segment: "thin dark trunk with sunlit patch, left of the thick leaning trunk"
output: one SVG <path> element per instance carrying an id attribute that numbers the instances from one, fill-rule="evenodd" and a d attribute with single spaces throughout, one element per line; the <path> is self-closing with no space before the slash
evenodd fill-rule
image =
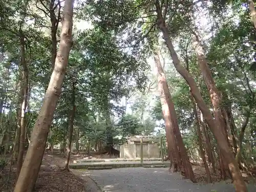
<path id="1" fill-rule="evenodd" d="M 20 139 L 19 139 L 19 152 L 18 152 L 18 159 L 17 159 L 17 176 L 19 175 L 20 169 L 22 168 L 23 163 L 23 156 L 25 150 L 25 138 L 26 138 L 26 110 L 27 110 L 27 102 L 28 102 L 28 81 L 29 81 L 29 71 L 26 61 L 25 55 L 25 40 L 24 35 L 20 34 L 20 54 L 21 54 L 21 66 L 22 66 L 22 84 L 20 88 L 20 97 L 21 97 L 21 106 L 20 106 L 20 117 L 18 120 L 19 127 L 20 127 Z"/>

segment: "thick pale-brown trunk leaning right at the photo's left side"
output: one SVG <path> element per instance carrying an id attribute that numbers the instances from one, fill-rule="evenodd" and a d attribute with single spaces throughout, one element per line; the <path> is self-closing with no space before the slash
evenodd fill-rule
<path id="1" fill-rule="evenodd" d="M 49 128 L 61 92 L 61 86 L 72 46 L 73 6 L 74 0 L 65 1 L 65 5 L 63 7 L 60 45 L 54 70 L 44 98 L 44 102 L 34 125 L 31 142 L 22 169 L 20 170 L 14 192 L 31 192 L 39 173 L 40 163 L 42 157 L 44 156 Z"/>

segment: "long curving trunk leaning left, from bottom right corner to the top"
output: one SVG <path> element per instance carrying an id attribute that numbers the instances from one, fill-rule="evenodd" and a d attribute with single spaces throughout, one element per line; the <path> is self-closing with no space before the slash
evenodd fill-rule
<path id="1" fill-rule="evenodd" d="M 174 66 L 176 70 L 183 76 L 186 80 L 187 84 L 191 89 L 191 93 L 195 98 L 196 102 L 198 103 L 198 107 L 203 113 L 203 116 L 209 125 L 211 132 L 214 134 L 214 137 L 220 147 L 222 154 L 224 155 L 226 162 L 228 163 L 229 170 L 231 172 L 234 186 L 236 187 L 237 191 L 240 192 L 247 192 L 247 187 L 245 185 L 244 179 L 240 172 L 238 163 L 236 159 L 234 159 L 230 148 L 227 145 L 226 137 L 224 136 L 221 127 L 218 126 L 218 123 L 215 121 L 214 117 L 212 117 L 206 103 L 203 100 L 202 95 L 197 87 L 197 84 L 191 74 L 181 65 L 178 55 L 174 49 L 173 42 L 169 37 L 168 29 L 165 26 L 165 20 L 163 19 L 161 13 L 161 7 L 159 1 L 155 3 L 157 16 L 158 16 L 158 28 L 162 31 L 164 40 L 166 42 L 167 48 L 170 51 L 170 56 L 173 59 Z"/>

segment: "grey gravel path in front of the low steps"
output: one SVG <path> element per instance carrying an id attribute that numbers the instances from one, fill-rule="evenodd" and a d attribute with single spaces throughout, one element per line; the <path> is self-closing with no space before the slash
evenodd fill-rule
<path id="1" fill-rule="evenodd" d="M 194 184 L 178 174 L 171 174 L 168 168 L 119 168 L 90 170 L 83 173 L 91 177 L 103 189 L 111 192 L 234 192 L 232 184 Z M 248 191 L 256 186 L 248 185 Z"/>

